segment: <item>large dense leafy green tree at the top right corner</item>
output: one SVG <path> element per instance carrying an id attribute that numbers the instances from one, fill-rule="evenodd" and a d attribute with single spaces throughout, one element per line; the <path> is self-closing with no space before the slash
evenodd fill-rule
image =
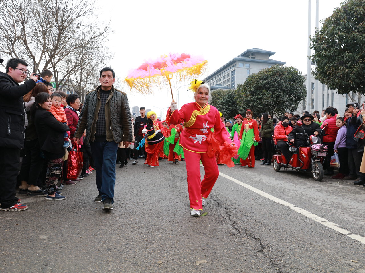
<path id="1" fill-rule="evenodd" d="M 349 0 L 311 37 L 314 77 L 339 94 L 365 94 L 365 1 Z"/>

